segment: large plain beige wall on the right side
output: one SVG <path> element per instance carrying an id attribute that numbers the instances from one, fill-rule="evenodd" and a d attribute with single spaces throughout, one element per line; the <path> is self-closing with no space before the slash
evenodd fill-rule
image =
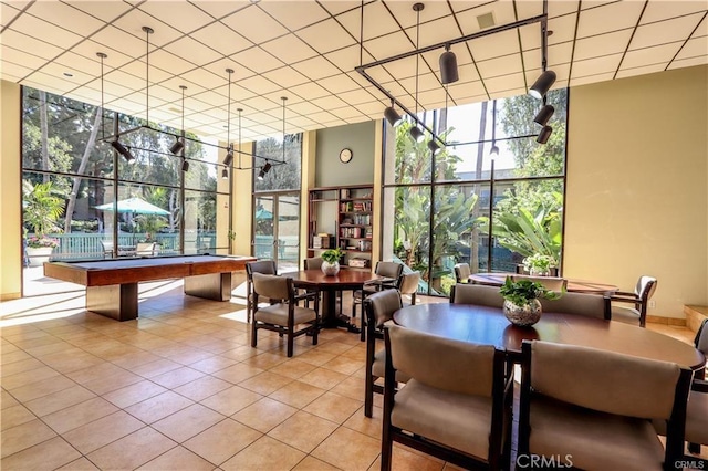
<path id="1" fill-rule="evenodd" d="M 708 66 L 571 90 L 563 274 L 708 304 Z"/>

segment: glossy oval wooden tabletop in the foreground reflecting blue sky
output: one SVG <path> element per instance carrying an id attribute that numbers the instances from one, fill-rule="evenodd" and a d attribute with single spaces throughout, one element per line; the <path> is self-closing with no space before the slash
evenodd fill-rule
<path id="1" fill-rule="evenodd" d="M 503 350 L 519 363 L 523 341 L 580 345 L 643 358 L 673 362 L 694 370 L 706 364 L 693 345 L 657 332 L 617 321 L 546 313 L 530 327 L 511 324 L 501 307 L 471 304 L 418 304 L 394 313 L 394 322 L 414 331 Z"/>

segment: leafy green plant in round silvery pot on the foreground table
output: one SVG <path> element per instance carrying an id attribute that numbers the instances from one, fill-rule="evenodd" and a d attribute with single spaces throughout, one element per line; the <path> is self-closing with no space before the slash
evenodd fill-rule
<path id="1" fill-rule="evenodd" d="M 561 293 L 550 291 L 539 282 L 531 280 L 512 281 L 510 276 L 507 276 L 507 281 L 499 289 L 499 293 L 504 299 L 504 315 L 513 325 L 521 327 L 533 325 L 541 318 L 540 297 L 545 297 L 546 300 L 561 297 Z"/>

